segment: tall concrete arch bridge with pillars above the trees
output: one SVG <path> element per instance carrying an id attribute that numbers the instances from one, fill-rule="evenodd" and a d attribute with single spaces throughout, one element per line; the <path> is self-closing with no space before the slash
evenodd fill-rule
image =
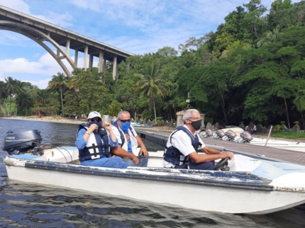
<path id="1" fill-rule="evenodd" d="M 126 57 L 133 55 L 130 52 L 107 45 L 104 42 L 88 38 L 72 30 L 53 25 L 47 21 L 34 18 L 33 16 L 1 5 L 0 29 L 25 35 L 37 42 L 60 64 L 60 67 L 62 67 L 62 70 L 67 76 L 71 76 L 71 73 L 62 62 L 62 59 L 67 59 L 72 69 L 75 69 L 77 68 L 79 52 L 84 53 L 84 69 L 87 69 L 88 58 L 90 70 L 92 69 L 93 58 L 99 58 L 99 72 L 106 70 L 106 61 L 113 62 L 113 80 L 118 78 L 117 64 L 126 59 Z M 50 42 L 56 48 L 57 53 L 54 53 L 45 42 Z M 75 50 L 74 59 L 70 57 L 71 49 Z"/>

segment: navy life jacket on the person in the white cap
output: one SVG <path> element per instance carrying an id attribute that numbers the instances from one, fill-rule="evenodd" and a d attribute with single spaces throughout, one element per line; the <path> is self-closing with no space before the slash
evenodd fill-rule
<path id="1" fill-rule="evenodd" d="M 85 129 L 88 130 L 89 125 L 82 123 L 79 125 L 79 130 Z M 79 132 L 78 130 L 78 132 Z M 77 132 L 77 135 L 78 135 Z M 91 133 L 94 134 L 94 142 L 91 143 L 90 147 L 84 147 L 84 149 L 79 149 L 79 161 L 88 161 L 93 159 L 101 159 L 106 156 L 109 157 L 109 137 L 104 128 L 99 128 L 99 132 L 95 130 Z M 90 135 L 91 136 L 91 135 Z M 89 136 L 89 137 L 90 137 Z M 89 150 L 90 149 L 90 150 Z M 90 152 L 91 151 L 91 152 Z"/>

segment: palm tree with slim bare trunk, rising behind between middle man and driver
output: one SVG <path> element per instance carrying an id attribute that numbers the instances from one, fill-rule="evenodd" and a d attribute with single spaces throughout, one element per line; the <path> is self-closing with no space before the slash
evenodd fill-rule
<path id="1" fill-rule="evenodd" d="M 145 74 L 138 74 L 140 81 L 135 85 L 138 88 L 135 90 L 137 93 L 142 93 L 144 96 L 151 96 L 153 99 L 153 106 L 155 111 L 155 96 L 167 96 L 168 87 L 166 81 L 160 75 L 160 65 L 157 62 L 148 64 Z M 157 115 L 155 112 L 155 122 L 157 122 Z"/>

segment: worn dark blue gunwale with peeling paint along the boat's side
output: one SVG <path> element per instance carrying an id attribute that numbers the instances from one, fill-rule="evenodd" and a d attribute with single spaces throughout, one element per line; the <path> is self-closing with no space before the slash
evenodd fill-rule
<path id="1" fill-rule="evenodd" d="M 12 161 L 24 165 L 14 165 Z M 250 172 L 226 172 L 226 171 L 191 171 L 191 170 L 178 170 L 178 169 L 160 169 L 160 168 L 128 168 L 128 169 L 113 169 L 97 166 L 82 166 L 79 164 L 65 164 L 54 161 L 35 161 L 32 159 L 17 159 L 7 156 L 4 160 L 7 166 L 24 166 L 28 169 L 42 169 L 48 171 L 64 171 L 68 173 L 89 174 L 96 176 L 110 176 L 117 178 L 132 178 L 150 181 L 166 181 L 172 183 L 187 183 L 196 184 L 201 186 L 214 186 L 223 188 L 238 188 L 246 190 L 264 190 L 273 191 L 274 187 L 268 185 L 272 182 L 267 178 L 255 176 Z M 140 171 L 145 171 L 141 173 Z M 164 173 L 166 173 L 164 175 Z M 168 174 L 167 174 L 168 173 Z M 238 181 L 239 177 L 246 179 Z"/>

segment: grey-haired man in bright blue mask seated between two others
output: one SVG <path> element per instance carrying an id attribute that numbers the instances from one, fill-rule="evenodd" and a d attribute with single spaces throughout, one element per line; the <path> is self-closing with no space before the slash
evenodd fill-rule
<path id="1" fill-rule="evenodd" d="M 118 147 L 112 148 L 112 153 L 121 156 L 130 166 L 147 167 L 148 150 L 131 126 L 131 114 L 128 111 L 119 112 L 118 119 L 111 127 L 118 139 Z"/>

